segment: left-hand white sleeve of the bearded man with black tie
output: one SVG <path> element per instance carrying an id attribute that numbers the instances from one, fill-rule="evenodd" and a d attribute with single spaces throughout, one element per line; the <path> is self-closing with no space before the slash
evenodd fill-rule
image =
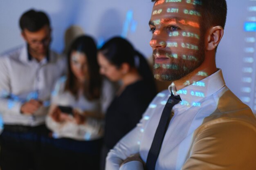
<path id="1" fill-rule="evenodd" d="M 106 158 L 106 170 L 119 170 L 121 163 L 126 158 L 139 152 L 142 137 L 142 133 L 140 132 L 142 121 L 143 119 L 141 119 L 140 123 L 137 124 L 137 126 L 133 128 L 126 136 L 124 136 L 112 150 L 110 150 Z M 136 166 L 134 163 L 138 165 L 137 161 L 132 161 L 124 164 L 124 167 L 122 167 L 124 170 L 132 167 L 134 168 L 134 166 Z M 138 166 L 137 168 L 139 167 L 141 166 Z"/>

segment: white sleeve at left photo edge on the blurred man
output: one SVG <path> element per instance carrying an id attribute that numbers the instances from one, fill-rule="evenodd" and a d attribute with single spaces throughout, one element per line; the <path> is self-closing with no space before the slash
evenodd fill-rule
<path id="1" fill-rule="evenodd" d="M 0 57 L 0 113 L 19 115 L 22 101 L 11 95 L 11 81 L 7 57 Z"/>

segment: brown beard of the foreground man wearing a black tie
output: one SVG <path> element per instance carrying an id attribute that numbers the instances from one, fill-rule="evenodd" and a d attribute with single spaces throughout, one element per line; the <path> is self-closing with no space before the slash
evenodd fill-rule
<path id="1" fill-rule="evenodd" d="M 159 81 L 175 81 L 182 77 L 188 75 L 195 68 L 198 68 L 204 61 L 204 42 L 199 42 L 198 51 L 193 51 L 191 53 L 186 53 L 186 59 L 183 59 L 183 54 L 177 54 L 177 58 L 170 57 L 170 61 L 167 64 L 156 64 L 155 56 L 156 54 L 173 56 L 171 51 L 166 51 L 163 49 L 155 49 L 153 51 L 153 73 L 155 79 Z M 193 57 L 192 57 L 193 56 Z"/>

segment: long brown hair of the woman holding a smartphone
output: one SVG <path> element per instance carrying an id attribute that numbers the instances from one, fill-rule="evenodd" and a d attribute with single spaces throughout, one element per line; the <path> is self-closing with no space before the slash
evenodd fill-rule
<path id="1" fill-rule="evenodd" d="M 100 97 L 102 78 L 99 74 L 99 64 L 97 62 L 97 47 L 94 40 L 87 35 L 82 35 L 70 46 L 68 52 L 68 73 L 67 81 L 65 84 L 65 91 L 70 91 L 76 99 L 78 98 L 79 82 L 71 70 L 70 58 L 73 51 L 84 53 L 87 57 L 88 66 L 88 79 L 85 80 L 83 85 L 83 95 L 88 100 L 98 99 Z"/>

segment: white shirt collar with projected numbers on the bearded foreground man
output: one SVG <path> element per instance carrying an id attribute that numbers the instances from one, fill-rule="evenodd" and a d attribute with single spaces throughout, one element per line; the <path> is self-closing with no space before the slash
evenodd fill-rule
<path id="1" fill-rule="evenodd" d="M 180 95 L 180 98 L 182 99 L 182 105 L 191 107 L 198 106 L 198 104 L 200 104 L 198 103 L 200 100 L 213 95 L 224 86 L 225 81 L 223 79 L 222 71 L 221 69 L 218 69 L 218 71 L 212 75 L 198 82 L 193 82 L 193 84 L 190 84 L 180 89 L 179 91 L 176 90 L 174 83 L 168 87 L 168 90 L 174 95 Z"/>

